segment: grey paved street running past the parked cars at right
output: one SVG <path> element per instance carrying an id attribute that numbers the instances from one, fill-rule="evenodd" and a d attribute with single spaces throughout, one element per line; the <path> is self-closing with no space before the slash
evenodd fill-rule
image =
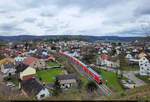
<path id="1" fill-rule="evenodd" d="M 106 67 L 99 67 L 108 71 L 116 72 L 113 68 L 106 68 Z M 143 80 L 138 79 L 135 74 L 137 74 L 138 71 L 123 71 L 123 76 L 127 77 L 128 79 L 132 80 L 135 83 L 135 86 L 143 86 L 146 85 L 146 83 Z M 118 74 L 120 74 L 120 70 L 118 70 Z"/>

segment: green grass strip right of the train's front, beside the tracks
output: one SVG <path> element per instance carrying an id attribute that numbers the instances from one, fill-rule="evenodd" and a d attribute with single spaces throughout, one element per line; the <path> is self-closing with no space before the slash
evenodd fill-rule
<path id="1" fill-rule="evenodd" d="M 103 69 L 100 69 L 101 76 L 103 78 L 103 82 L 106 83 L 106 80 L 108 81 L 108 87 L 111 88 L 114 91 L 122 91 L 122 87 L 118 81 L 117 75 L 110 71 L 104 71 Z"/>

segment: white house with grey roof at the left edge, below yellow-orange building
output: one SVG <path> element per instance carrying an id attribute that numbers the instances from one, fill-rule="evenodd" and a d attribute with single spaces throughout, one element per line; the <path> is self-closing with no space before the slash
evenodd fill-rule
<path id="1" fill-rule="evenodd" d="M 1 72 L 3 72 L 4 74 L 15 73 L 15 71 L 16 69 L 14 63 L 5 62 L 1 65 Z"/>

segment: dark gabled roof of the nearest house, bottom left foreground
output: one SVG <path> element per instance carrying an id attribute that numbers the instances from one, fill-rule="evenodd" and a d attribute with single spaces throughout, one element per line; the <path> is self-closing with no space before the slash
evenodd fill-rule
<path id="1" fill-rule="evenodd" d="M 36 78 L 22 81 L 21 87 L 28 95 L 37 95 L 44 88 L 42 83 Z"/>

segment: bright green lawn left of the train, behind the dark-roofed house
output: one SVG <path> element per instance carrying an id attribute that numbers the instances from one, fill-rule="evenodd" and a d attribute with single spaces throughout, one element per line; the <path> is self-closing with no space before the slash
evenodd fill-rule
<path id="1" fill-rule="evenodd" d="M 56 75 L 61 75 L 61 74 L 62 74 L 62 69 L 61 68 L 37 71 L 37 76 L 38 76 L 38 78 L 42 79 L 42 82 L 53 82 L 54 77 Z"/>

